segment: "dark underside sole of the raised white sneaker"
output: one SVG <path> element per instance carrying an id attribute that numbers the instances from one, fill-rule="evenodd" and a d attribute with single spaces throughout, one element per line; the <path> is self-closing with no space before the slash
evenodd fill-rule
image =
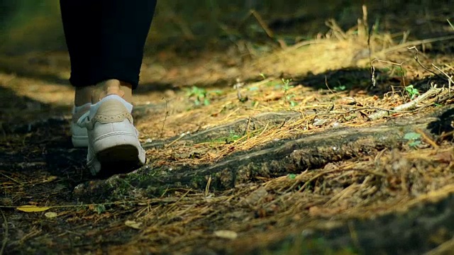
<path id="1" fill-rule="evenodd" d="M 104 149 L 96 154 L 96 159 L 101 165 L 96 174 L 99 177 L 126 174 L 143 166 L 138 148 L 133 145 L 117 145 Z"/>

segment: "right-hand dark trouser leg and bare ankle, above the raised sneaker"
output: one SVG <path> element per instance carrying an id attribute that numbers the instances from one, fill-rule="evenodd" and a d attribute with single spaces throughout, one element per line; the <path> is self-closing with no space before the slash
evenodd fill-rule
<path id="1" fill-rule="evenodd" d="M 92 102 L 118 94 L 131 103 L 156 0 L 102 0 L 100 48 Z"/>

